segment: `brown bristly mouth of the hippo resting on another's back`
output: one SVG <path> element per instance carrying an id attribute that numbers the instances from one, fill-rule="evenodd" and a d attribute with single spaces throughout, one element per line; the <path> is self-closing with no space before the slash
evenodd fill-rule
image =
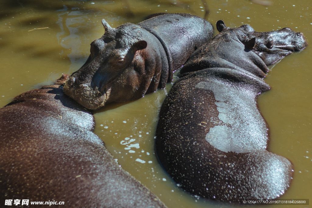
<path id="1" fill-rule="evenodd" d="M 64 93 L 76 100 L 80 105 L 86 109 L 95 110 L 103 107 L 110 97 L 111 89 L 106 89 L 100 92 L 98 87 L 94 89 L 88 84 L 80 84 L 77 88 L 73 88 L 68 84 L 64 85 Z"/>

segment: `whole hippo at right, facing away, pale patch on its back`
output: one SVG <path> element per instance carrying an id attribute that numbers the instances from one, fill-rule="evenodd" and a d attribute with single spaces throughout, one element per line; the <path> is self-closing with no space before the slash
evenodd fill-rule
<path id="1" fill-rule="evenodd" d="M 275 199 L 287 190 L 293 166 L 267 151 L 268 126 L 257 97 L 263 78 L 282 58 L 306 46 L 290 28 L 256 32 L 226 27 L 199 47 L 164 100 L 156 130 L 160 163 L 178 186 L 197 196 L 242 203 Z"/>

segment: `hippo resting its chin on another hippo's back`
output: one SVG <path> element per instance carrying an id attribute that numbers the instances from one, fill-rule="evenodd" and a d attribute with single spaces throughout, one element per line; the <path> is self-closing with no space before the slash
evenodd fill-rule
<path id="1" fill-rule="evenodd" d="M 85 64 L 64 92 L 87 109 L 143 97 L 172 81 L 173 72 L 213 35 L 206 20 L 184 13 L 158 13 L 138 24 L 112 28 L 91 43 Z"/>

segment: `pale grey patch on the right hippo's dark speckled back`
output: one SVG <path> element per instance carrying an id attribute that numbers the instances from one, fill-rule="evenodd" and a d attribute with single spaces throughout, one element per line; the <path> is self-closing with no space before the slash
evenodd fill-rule
<path id="1" fill-rule="evenodd" d="M 248 89 L 233 87 L 219 80 L 199 82 L 195 86 L 211 90 L 223 125 L 209 129 L 206 141 L 222 152 L 253 152 L 266 148 L 266 123 L 259 113 L 255 95 Z"/>

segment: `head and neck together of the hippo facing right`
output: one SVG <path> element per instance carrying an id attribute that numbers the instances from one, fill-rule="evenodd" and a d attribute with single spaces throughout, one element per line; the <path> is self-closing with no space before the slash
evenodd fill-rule
<path id="1" fill-rule="evenodd" d="M 256 32 L 250 25 L 229 28 L 222 20 L 217 22 L 220 32 L 207 44 L 198 48 L 183 66 L 180 75 L 212 67 L 246 70 L 265 77 L 270 66 L 306 46 L 301 32 L 283 28 L 276 31 Z"/>

